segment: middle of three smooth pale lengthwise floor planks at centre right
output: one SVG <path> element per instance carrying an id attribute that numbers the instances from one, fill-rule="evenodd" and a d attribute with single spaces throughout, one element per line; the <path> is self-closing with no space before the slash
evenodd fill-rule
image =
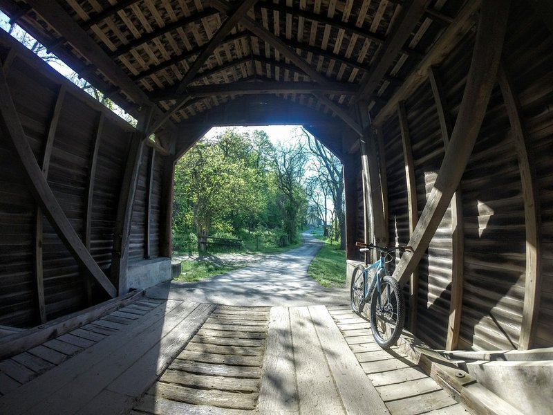
<path id="1" fill-rule="evenodd" d="M 299 412 L 344 414 L 341 398 L 328 367 L 307 307 L 290 308 L 292 347 L 299 396 Z"/>

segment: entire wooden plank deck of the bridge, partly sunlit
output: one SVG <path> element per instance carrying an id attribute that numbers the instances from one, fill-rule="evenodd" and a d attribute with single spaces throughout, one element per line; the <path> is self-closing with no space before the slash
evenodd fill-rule
<path id="1" fill-rule="evenodd" d="M 465 414 L 348 307 L 142 298 L 0 362 L 1 414 Z"/>

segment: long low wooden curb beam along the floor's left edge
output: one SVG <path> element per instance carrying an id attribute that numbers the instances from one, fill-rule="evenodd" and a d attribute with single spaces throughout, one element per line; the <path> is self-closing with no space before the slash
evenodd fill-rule
<path id="1" fill-rule="evenodd" d="M 57 338 L 59 335 L 78 329 L 89 322 L 93 322 L 106 314 L 113 313 L 113 311 L 131 304 L 143 295 L 144 291 L 142 290 L 133 291 L 122 297 L 109 299 L 85 310 L 64 315 L 32 329 L 7 335 L 0 340 L 0 360 L 8 359 L 48 340 Z"/>

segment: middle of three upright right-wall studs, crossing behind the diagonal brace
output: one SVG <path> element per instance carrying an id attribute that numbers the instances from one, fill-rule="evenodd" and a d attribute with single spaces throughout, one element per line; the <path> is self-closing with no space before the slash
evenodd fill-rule
<path id="1" fill-rule="evenodd" d="M 438 70 L 429 67 L 429 80 L 431 84 L 436 111 L 438 111 L 438 120 L 440 121 L 440 131 L 444 141 L 444 149 L 447 151 L 449 138 L 453 126 L 450 122 L 449 111 L 445 93 L 438 76 Z M 457 348 L 459 342 L 459 331 L 461 326 L 462 313 L 462 291 L 463 280 L 465 279 L 465 230 L 462 212 L 461 191 L 458 188 L 451 197 L 451 299 L 449 300 L 449 320 L 447 323 L 447 338 L 445 348 L 453 350 Z"/>

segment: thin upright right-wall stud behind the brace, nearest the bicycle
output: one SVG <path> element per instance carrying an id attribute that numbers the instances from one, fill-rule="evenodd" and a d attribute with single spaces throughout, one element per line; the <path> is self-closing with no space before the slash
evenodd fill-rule
<path id="1" fill-rule="evenodd" d="M 411 148 L 411 135 L 409 133 L 409 123 L 407 122 L 407 111 L 405 102 L 402 101 L 397 106 L 397 120 L 400 122 L 400 131 L 402 135 L 403 160 L 405 166 L 405 180 L 407 184 L 407 207 L 409 209 L 409 238 L 413 237 L 415 226 L 417 225 L 419 215 L 417 208 L 417 183 L 415 181 L 415 163 L 413 163 L 413 151 Z M 417 304 L 419 292 L 419 270 L 415 269 L 411 274 L 411 284 L 409 284 L 409 325 L 411 333 L 417 331 Z"/>

